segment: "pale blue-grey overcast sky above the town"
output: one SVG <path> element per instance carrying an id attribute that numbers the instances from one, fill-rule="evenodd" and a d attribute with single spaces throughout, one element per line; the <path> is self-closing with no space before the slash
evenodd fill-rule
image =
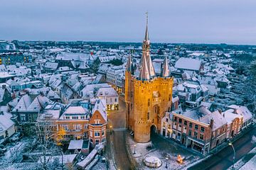
<path id="1" fill-rule="evenodd" d="M 256 45 L 256 0 L 2 0 L 0 40 Z"/>

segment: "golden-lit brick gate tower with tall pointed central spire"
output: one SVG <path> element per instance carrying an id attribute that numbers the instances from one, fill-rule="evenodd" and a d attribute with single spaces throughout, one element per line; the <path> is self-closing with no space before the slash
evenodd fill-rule
<path id="1" fill-rule="evenodd" d="M 147 13 L 146 13 L 147 14 Z M 149 142 L 151 132 L 160 132 L 161 118 L 171 110 L 171 96 L 174 84 L 169 74 L 167 58 L 160 76 L 156 76 L 150 57 L 148 16 L 142 45 L 142 59 L 139 77 L 132 75 L 132 57 L 129 56 L 125 72 L 125 102 L 127 128 L 134 132 L 136 142 Z"/>

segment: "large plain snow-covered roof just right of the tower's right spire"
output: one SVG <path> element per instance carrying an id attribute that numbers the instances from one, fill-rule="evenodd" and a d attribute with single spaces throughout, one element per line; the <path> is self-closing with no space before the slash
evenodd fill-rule
<path id="1" fill-rule="evenodd" d="M 176 69 L 188 69 L 199 71 L 201 67 L 201 61 L 193 58 L 181 57 L 180 59 L 178 59 L 174 67 Z"/>

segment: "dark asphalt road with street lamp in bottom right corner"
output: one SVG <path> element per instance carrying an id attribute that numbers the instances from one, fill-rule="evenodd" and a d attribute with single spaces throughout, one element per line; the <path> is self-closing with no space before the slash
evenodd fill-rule
<path id="1" fill-rule="evenodd" d="M 243 135 L 239 140 L 233 142 L 233 146 L 235 147 L 235 162 L 241 159 L 245 154 L 250 152 L 256 144 L 252 142 L 252 136 L 256 134 L 256 128 L 252 129 L 247 134 Z M 205 161 L 196 164 L 189 168 L 189 170 L 215 170 L 215 169 L 228 169 L 228 167 L 233 164 L 233 149 L 232 147 L 226 147 L 222 151 L 218 152 L 218 154 L 213 155 L 212 157 L 206 159 Z"/>

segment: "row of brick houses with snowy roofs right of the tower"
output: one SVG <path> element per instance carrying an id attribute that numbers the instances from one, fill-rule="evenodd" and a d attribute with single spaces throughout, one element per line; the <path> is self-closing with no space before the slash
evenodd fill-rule
<path id="1" fill-rule="evenodd" d="M 252 125 L 252 113 L 245 106 L 231 105 L 224 112 L 211 112 L 202 105 L 185 112 L 179 109 L 167 112 L 161 125 L 164 137 L 208 154 L 211 149 Z"/>

